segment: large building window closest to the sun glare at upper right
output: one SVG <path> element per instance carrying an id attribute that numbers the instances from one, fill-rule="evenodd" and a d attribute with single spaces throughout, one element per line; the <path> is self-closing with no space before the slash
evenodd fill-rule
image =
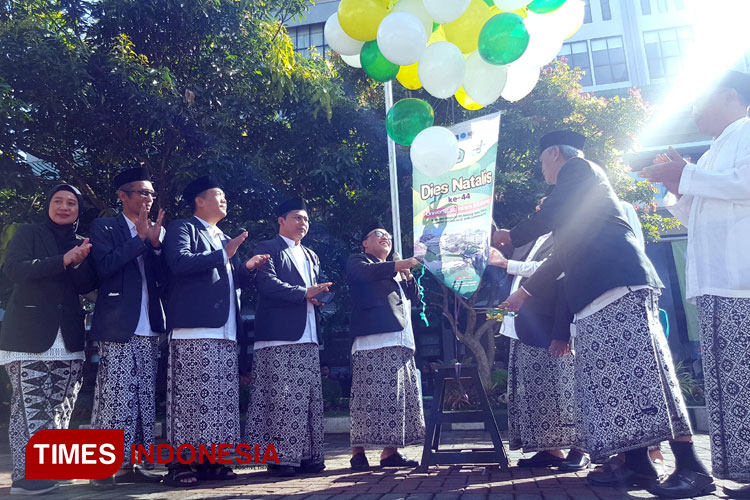
<path id="1" fill-rule="evenodd" d="M 693 43 L 693 30 L 689 26 L 643 33 L 646 61 L 651 78 L 676 76 Z"/>

